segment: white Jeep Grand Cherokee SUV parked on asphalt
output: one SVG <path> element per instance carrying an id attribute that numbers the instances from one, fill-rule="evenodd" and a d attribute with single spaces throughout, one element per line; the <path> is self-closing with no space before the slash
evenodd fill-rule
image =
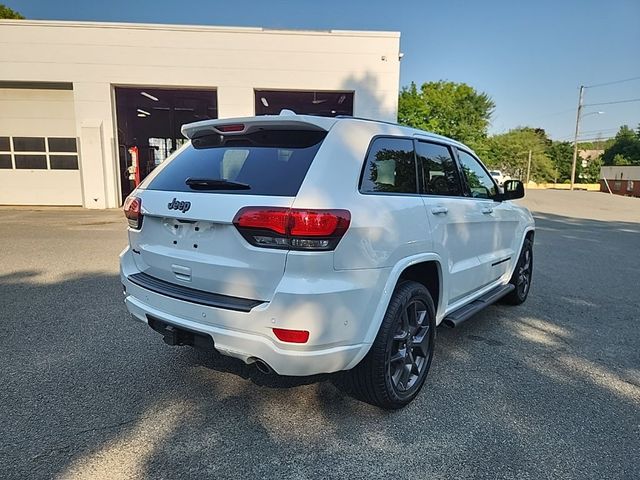
<path id="1" fill-rule="evenodd" d="M 170 345 L 262 371 L 350 370 L 383 408 L 424 384 L 435 329 L 522 303 L 534 223 L 464 145 L 303 115 L 185 125 L 125 202 L 125 302 Z"/>

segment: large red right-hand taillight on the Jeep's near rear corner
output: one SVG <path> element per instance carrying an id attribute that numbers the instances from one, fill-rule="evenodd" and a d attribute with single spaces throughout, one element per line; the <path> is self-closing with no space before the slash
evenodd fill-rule
<path id="1" fill-rule="evenodd" d="M 333 250 L 350 222 L 348 210 L 284 207 L 245 207 L 233 219 L 252 245 L 291 250 Z"/>

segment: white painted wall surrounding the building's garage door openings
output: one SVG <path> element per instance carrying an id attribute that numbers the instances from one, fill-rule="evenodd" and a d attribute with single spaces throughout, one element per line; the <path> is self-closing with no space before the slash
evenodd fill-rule
<path id="1" fill-rule="evenodd" d="M 395 121 L 399 42 L 397 32 L 0 20 L 0 81 L 73 83 L 83 204 L 105 208 L 119 205 L 113 85 L 213 87 L 221 118 L 253 115 L 254 89 L 354 90 L 354 115 Z M 87 125 L 100 129 L 101 155 Z"/>

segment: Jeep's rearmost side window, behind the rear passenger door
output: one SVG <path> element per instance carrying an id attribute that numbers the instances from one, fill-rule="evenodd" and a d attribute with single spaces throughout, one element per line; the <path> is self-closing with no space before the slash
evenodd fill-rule
<path id="1" fill-rule="evenodd" d="M 376 138 L 367 156 L 360 191 L 417 193 L 413 141 Z"/>

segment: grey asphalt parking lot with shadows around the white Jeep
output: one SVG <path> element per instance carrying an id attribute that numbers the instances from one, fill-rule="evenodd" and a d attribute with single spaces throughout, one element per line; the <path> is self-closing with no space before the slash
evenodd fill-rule
<path id="1" fill-rule="evenodd" d="M 120 211 L 0 208 L 0 476 L 640 478 L 640 199 L 524 203 L 528 301 L 438 329 L 392 413 L 132 321 Z"/>

